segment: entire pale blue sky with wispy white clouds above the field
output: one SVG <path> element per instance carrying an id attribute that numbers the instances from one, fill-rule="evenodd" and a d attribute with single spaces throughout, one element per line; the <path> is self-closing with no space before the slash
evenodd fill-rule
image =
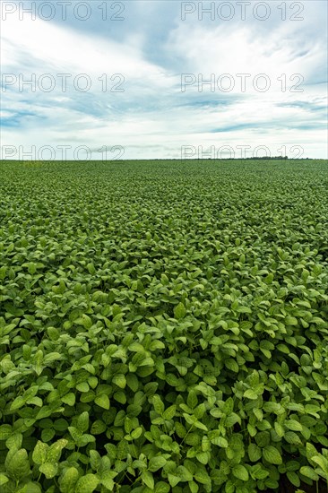
<path id="1" fill-rule="evenodd" d="M 1 1 L 2 159 L 327 159 L 327 2 Z"/>

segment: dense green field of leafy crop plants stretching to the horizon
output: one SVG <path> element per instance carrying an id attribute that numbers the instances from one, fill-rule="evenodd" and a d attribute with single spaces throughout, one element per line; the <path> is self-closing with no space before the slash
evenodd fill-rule
<path id="1" fill-rule="evenodd" d="M 0 163 L 2 493 L 328 490 L 328 163 Z"/>

